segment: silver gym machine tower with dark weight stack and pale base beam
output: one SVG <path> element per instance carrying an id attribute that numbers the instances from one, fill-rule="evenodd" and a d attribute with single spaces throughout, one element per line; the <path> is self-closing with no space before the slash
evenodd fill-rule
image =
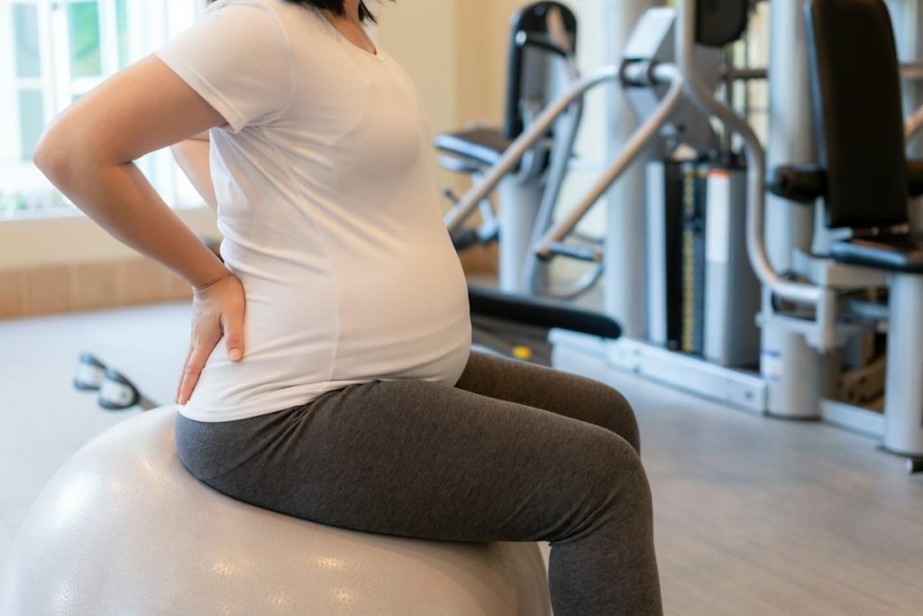
<path id="1" fill-rule="evenodd" d="M 641 7 L 649 4 L 652 3 L 632 2 L 619 9 L 613 7 L 613 19 L 624 25 L 626 13 L 641 13 Z M 717 4 L 727 9 L 726 15 L 747 14 L 752 7 L 748 0 L 739 0 L 737 8 L 731 6 L 731 0 Z M 762 261 L 748 264 L 743 259 L 750 250 L 742 234 L 754 218 L 752 211 L 762 207 L 763 153 L 749 126 L 719 103 L 714 91 L 721 82 L 726 86 L 737 79 L 758 79 L 765 71 L 722 66 L 720 50 L 706 43 L 725 42 L 728 32 L 735 29 L 703 30 L 702 24 L 713 22 L 702 18 L 701 12 L 708 12 L 711 6 L 679 2 L 677 8 L 650 8 L 641 13 L 634 30 L 622 37 L 622 48 L 614 59 L 620 66 L 623 87 L 620 95 L 610 98 L 614 125 L 611 137 L 617 162 L 605 179 L 617 183 L 610 191 L 603 285 L 605 311 L 619 320 L 624 336 L 617 341 L 594 341 L 555 331 L 554 365 L 581 371 L 587 365 L 596 370 L 603 364 L 605 368 L 627 370 L 727 404 L 761 411 L 765 407 L 766 383 L 741 368 L 748 368 L 759 358 L 758 332 L 753 326 L 761 296 L 758 281 L 781 278 L 765 268 L 758 271 Z M 736 31 L 739 34 L 739 29 Z M 672 83 L 679 84 L 678 100 L 672 108 L 665 103 L 670 100 L 673 86 L 663 93 L 668 88 L 666 84 L 644 81 L 657 69 L 676 74 Z M 624 116 L 631 112 L 638 116 L 640 126 L 628 131 Z M 663 115 L 668 115 L 672 127 L 665 124 Z M 711 117 L 713 122 L 706 122 L 705 117 Z M 664 127 L 657 128 L 657 122 Z M 710 127 L 721 129 L 720 142 Z M 661 142 L 654 139 L 658 130 L 665 137 Z M 742 155 L 729 150 L 734 143 L 731 134 L 735 132 L 742 137 Z M 682 154 L 676 143 L 689 145 L 692 151 L 708 152 L 716 146 L 724 151 L 697 162 L 694 156 Z M 665 163 L 641 164 L 651 159 Z M 675 173 L 677 183 L 665 181 L 667 173 Z M 689 175 L 689 182 L 684 174 Z M 699 183 L 711 188 L 703 191 L 709 202 L 701 202 L 695 188 Z M 659 195 L 653 189 L 658 184 Z M 693 187 L 689 191 L 692 199 L 686 199 L 687 194 L 664 194 L 668 185 L 683 189 L 687 184 Z M 566 222 L 580 220 L 593 200 L 602 197 L 607 189 L 608 184 L 602 183 L 581 201 Z M 671 215 L 665 207 L 671 199 L 679 199 L 680 207 L 691 203 L 692 215 L 699 217 L 699 222 L 687 227 L 688 211 L 674 211 Z M 705 226 L 712 227 L 712 233 L 705 234 L 702 245 L 701 233 L 709 229 L 699 228 L 696 232 L 695 224 L 701 225 L 701 214 L 712 210 L 722 215 L 713 215 L 710 221 L 705 217 Z M 675 236 L 668 235 L 668 225 L 673 225 Z M 559 246 L 556 242 L 568 231 L 569 227 L 563 225 L 553 229 L 536 247 L 536 253 L 554 256 Z M 671 276 L 670 263 L 682 257 L 687 231 L 692 236 L 689 243 L 693 245 L 694 260 L 682 261 L 683 267 L 673 270 Z M 670 253 L 674 253 L 672 257 Z M 598 258 L 602 259 L 603 254 Z M 684 303 L 688 289 L 684 285 L 689 282 L 689 271 L 685 266 L 696 262 L 699 265 L 691 279 L 698 289 L 697 299 L 687 310 Z M 701 278 L 704 282 L 698 282 Z M 692 320 L 698 321 L 697 326 L 689 328 L 692 334 L 685 344 L 686 352 L 679 352 L 681 344 L 671 346 L 671 339 L 677 340 L 678 336 L 669 331 L 669 316 L 665 314 L 670 300 L 683 309 L 683 319 L 692 315 Z"/>

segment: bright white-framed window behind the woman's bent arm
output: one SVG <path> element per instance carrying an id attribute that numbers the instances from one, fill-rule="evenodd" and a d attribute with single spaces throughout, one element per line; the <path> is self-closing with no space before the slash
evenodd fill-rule
<path id="1" fill-rule="evenodd" d="M 204 0 L 0 0 L 0 218 L 78 212 L 32 165 L 45 125 L 192 24 Z M 200 199 L 168 151 L 138 161 L 168 203 Z"/>

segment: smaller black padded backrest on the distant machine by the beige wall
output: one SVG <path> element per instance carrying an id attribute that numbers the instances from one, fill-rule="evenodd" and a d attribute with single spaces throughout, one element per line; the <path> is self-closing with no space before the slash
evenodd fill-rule
<path id="1" fill-rule="evenodd" d="M 503 120 L 503 136 L 516 139 L 522 133 L 522 98 L 530 91 L 548 91 L 545 84 L 530 84 L 527 80 L 551 79 L 547 66 L 559 59 L 552 54 L 519 43 L 520 33 L 534 35 L 551 42 L 548 31 L 548 15 L 553 7 L 560 11 L 564 30 L 567 31 L 572 49 L 577 48 L 577 16 L 567 6 L 559 2 L 535 2 L 523 6 L 517 11 L 510 23 L 509 32 L 509 72 L 507 78 L 507 103 Z M 536 88 L 537 86 L 537 88 Z M 541 105 L 544 107 L 545 105 Z"/>

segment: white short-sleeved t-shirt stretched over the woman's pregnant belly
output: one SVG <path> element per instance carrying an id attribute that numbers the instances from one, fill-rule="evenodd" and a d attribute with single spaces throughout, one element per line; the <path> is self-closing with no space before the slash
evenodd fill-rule
<path id="1" fill-rule="evenodd" d="M 222 340 L 180 412 L 255 417 L 371 380 L 453 386 L 467 287 L 401 67 L 283 0 L 220 0 L 156 54 L 228 121 L 210 166 L 246 292 L 244 359 Z"/>

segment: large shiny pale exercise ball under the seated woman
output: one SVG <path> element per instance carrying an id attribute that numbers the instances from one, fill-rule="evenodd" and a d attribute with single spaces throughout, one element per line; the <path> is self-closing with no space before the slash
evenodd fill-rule
<path id="1" fill-rule="evenodd" d="M 549 615 L 535 543 L 360 533 L 235 501 L 189 474 L 174 406 L 54 475 L 14 541 L 0 613 Z"/>

